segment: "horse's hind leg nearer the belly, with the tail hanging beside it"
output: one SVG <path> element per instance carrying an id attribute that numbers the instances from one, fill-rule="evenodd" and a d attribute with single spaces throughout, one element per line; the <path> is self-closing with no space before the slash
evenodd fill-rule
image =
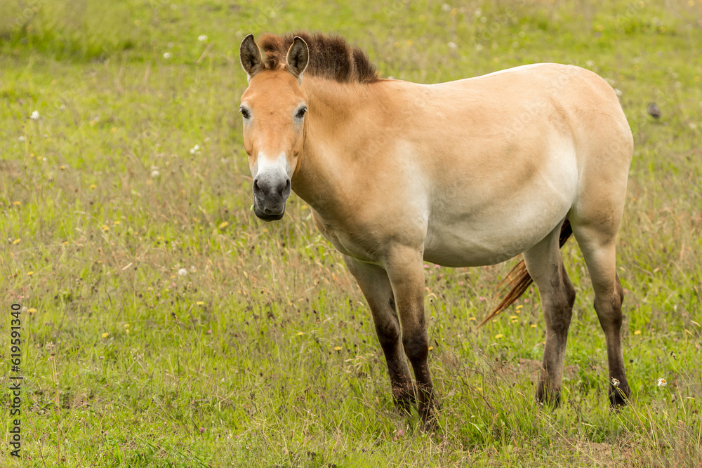
<path id="1" fill-rule="evenodd" d="M 575 301 L 575 288 L 563 267 L 559 250 L 560 231 L 561 225 L 558 225 L 543 241 L 524 252 L 527 271 L 541 297 L 546 325 L 536 399 L 551 406 L 559 404 L 568 329 Z"/>

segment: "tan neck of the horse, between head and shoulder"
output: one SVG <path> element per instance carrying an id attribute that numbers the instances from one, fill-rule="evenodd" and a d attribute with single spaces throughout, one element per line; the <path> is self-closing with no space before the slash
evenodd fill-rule
<path id="1" fill-rule="evenodd" d="M 305 140 L 293 175 L 293 190 L 324 217 L 339 206 L 350 206 L 357 193 L 359 163 L 364 146 L 377 126 L 378 83 L 337 83 L 314 76 L 303 79 L 310 109 L 305 119 Z"/>

